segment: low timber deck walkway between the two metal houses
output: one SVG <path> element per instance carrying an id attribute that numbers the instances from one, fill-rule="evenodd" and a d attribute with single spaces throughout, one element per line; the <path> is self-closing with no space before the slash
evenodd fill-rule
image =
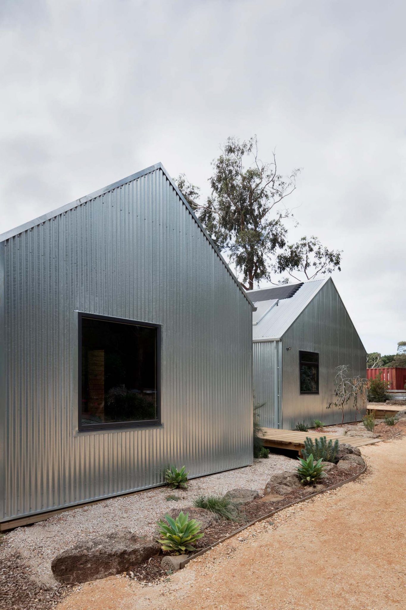
<path id="1" fill-rule="evenodd" d="M 310 439 L 320 439 L 325 436 L 327 441 L 338 439 L 340 443 L 348 443 L 352 447 L 362 447 L 362 445 L 371 445 L 379 443 L 382 439 L 366 439 L 362 436 L 346 436 L 345 434 L 329 434 L 328 432 L 298 432 L 296 430 L 282 430 L 278 428 L 262 428 L 264 430 L 264 446 L 276 447 L 278 449 L 289 449 L 292 451 L 301 451 L 304 447 L 304 441 L 309 436 Z"/>

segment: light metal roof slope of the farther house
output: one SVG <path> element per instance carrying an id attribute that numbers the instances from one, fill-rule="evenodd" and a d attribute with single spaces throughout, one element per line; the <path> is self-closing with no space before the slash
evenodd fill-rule
<path id="1" fill-rule="evenodd" d="M 292 289 L 295 288 L 295 290 L 292 290 L 292 296 L 278 299 L 270 298 L 267 301 L 262 300 L 264 289 L 250 290 L 248 295 L 257 307 L 257 312 L 254 312 L 253 315 L 253 340 L 281 339 L 282 335 L 293 324 L 298 315 L 303 312 L 304 308 L 329 279 L 331 279 L 330 276 L 324 279 L 290 284 Z M 269 290 L 271 295 L 271 290 L 274 289 L 265 290 Z M 258 293 L 259 301 L 257 301 L 256 293 Z"/>

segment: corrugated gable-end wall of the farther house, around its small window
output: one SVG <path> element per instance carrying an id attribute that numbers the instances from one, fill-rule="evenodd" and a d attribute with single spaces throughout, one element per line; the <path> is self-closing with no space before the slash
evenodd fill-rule
<path id="1" fill-rule="evenodd" d="M 287 351 L 289 347 L 292 349 Z M 320 354 L 318 395 L 299 393 L 299 350 L 317 351 Z M 326 409 L 327 404 L 334 400 L 335 367 L 341 364 L 348 364 L 352 375 L 366 377 L 365 348 L 333 282 L 329 280 L 282 337 L 282 414 L 285 429 L 292 429 L 303 420 L 311 424 L 315 418 L 326 424 L 341 422 L 341 411 L 333 406 Z M 365 405 L 360 405 L 360 409 L 364 414 Z M 355 411 L 348 407 L 345 422 L 354 419 Z"/>

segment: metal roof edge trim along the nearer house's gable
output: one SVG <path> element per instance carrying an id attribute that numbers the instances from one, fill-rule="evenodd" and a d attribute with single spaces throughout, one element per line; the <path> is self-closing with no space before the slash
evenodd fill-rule
<path id="1" fill-rule="evenodd" d="M 47 220 L 52 220 L 52 218 L 59 216 L 63 212 L 68 212 L 68 210 L 72 210 L 74 207 L 81 206 L 82 204 L 86 203 L 90 199 L 94 199 L 94 198 L 98 197 L 99 195 L 103 195 L 103 193 L 113 190 L 114 188 L 120 187 L 123 184 L 127 184 L 127 182 L 131 182 L 133 180 L 136 180 L 137 178 L 141 178 L 141 176 L 145 176 L 145 174 L 149 174 L 155 170 L 161 170 L 163 172 L 166 179 L 170 182 L 170 185 L 172 186 L 172 188 L 177 192 L 177 195 L 179 196 L 181 202 L 184 204 L 184 206 L 186 206 L 187 210 L 191 214 L 195 223 L 197 223 L 201 232 L 203 233 L 203 235 L 205 235 L 209 244 L 214 249 L 215 254 L 217 254 L 219 259 L 222 261 L 223 265 L 226 267 L 226 270 L 231 275 L 234 282 L 236 282 L 237 286 L 239 287 L 240 291 L 247 299 L 248 303 L 250 303 L 251 307 L 254 308 L 254 305 L 250 299 L 250 296 L 248 296 L 247 293 L 245 292 L 245 290 L 243 290 L 242 285 L 237 280 L 233 271 L 231 271 L 228 264 L 223 259 L 222 254 L 220 254 L 219 249 L 217 248 L 215 243 L 212 241 L 211 237 L 206 232 L 206 229 L 200 223 L 200 220 L 198 220 L 198 218 L 195 215 L 195 213 L 193 212 L 191 206 L 189 206 L 189 204 L 187 203 L 186 199 L 184 198 L 184 196 L 180 192 L 179 188 L 177 187 L 177 184 L 175 184 L 175 182 L 173 182 L 172 178 L 170 178 L 170 176 L 169 176 L 169 173 L 166 171 L 163 164 L 160 162 L 155 163 L 155 165 L 151 165 L 150 167 L 145 168 L 145 170 L 141 170 L 141 171 L 136 172 L 135 174 L 131 174 L 131 176 L 127 176 L 127 178 L 123 178 L 122 180 L 119 180 L 118 182 L 113 182 L 113 184 L 109 184 L 105 188 L 99 188 L 99 190 L 95 191 L 94 193 L 90 193 L 89 195 L 85 195 L 84 197 L 80 197 L 79 199 L 75 199 L 75 201 L 71 201 L 71 203 L 68 203 L 65 206 L 61 206 L 55 210 L 52 210 L 51 212 L 47 212 L 46 214 L 43 214 L 42 216 L 39 216 L 38 218 L 34 218 L 33 220 L 30 220 L 27 223 L 21 224 L 20 226 L 14 228 L 14 229 L 10 229 L 10 231 L 5 231 L 3 234 L 0 235 L 0 243 L 4 242 L 7 239 L 10 239 L 11 237 L 15 237 L 16 235 L 23 233 L 24 231 L 29 231 L 29 229 L 32 229 L 33 227 L 37 226 L 38 224 L 44 223 Z"/>

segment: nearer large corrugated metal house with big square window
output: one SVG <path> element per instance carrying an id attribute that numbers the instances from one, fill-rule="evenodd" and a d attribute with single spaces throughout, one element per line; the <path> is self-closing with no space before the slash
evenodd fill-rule
<path id="1" fill-rule="evenodd" d="M 252 304 L 161 163 L 0 236 L 0 521 L 250 464 Z"/>

